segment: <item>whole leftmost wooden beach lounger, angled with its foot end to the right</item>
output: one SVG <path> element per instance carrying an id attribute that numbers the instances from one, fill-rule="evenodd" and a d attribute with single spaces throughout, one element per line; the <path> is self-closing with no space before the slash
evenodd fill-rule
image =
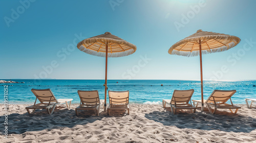
<path id="1" fill-rule="evenodd" d="M 34 113 L 36 109 L 46 109 L 47 112 L 51 115 L 56 105 L 66 103 L 68 108 L 70 108 L 71 101 L 73 100 L 73 99 L 56 99 L 50 89 L 45 89 L 45 90 L 32 89 L 31 91 L 35 95 L 36 99 L 35 99 L 34 105 L 26 107 L 29 114 Z M 37 99 L 39 100 L 40 103 L 36 104 Z M 32 109 L 32 112 L 30 111 L 30 109 Z"/>

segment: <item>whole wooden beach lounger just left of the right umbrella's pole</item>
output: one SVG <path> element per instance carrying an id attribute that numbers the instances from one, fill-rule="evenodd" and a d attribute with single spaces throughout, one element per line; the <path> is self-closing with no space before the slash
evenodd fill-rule
<path id="1" fill-rule="evenodd" d="M 191 112 L 196 112 L 196 107 L 191 104 L 191 97 L 194 90 L 174 90 L 171 100 L 163 99 L 163 108 L 166 104 L 170 105 L 173 114 L 176 114 L 177 109 L 190 109 Z M 190 102 L 190 104 L 189 104 Z M 194 109 L 194 111 L 193 111 Z"/>

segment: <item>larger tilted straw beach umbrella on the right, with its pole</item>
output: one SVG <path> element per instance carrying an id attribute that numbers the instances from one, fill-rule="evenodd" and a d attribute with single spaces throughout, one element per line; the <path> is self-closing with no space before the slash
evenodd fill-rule
<path id="1" fill-rule="evenodd" d="M 236 46 L 240 41 L 241 39 L 236 36 L 198 30 L 197 33 L 190 35 L 183 40 L 180 40 L 169 48 L 169 54 L 177 54 L 183 56 L 200 55 L 202 111 L 204 103 L 202 54 L 228 50 Z"/>

